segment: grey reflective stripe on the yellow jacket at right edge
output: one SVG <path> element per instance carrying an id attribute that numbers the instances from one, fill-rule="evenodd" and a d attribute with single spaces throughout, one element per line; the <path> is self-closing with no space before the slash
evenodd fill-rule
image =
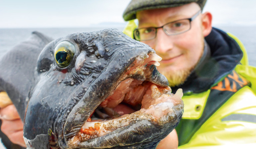
<path id="1" fill-rule="evenodd" d="M 244 122 L 256 123 L 256 115 L 231 114 L 231 115 L 221 119 L 221 121 L 244 121 Z"/>

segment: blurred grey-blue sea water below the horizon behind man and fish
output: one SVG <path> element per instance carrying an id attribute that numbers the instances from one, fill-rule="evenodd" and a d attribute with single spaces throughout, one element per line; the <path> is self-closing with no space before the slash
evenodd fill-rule
<path id="1" fill-rule="evenodd" d="M 45 35 L 57 39 L 71 33 L 96 31 L 105 28 L 117 28 L 122 31 L 124 26 L 119 27 L 84 27 L 84 28 L 0 28 L 0 58 L 4 53 L 16 44 L 26 40 L 33 31 L 39 31 Z M 256 66 L 256 26 L 217 26 L 226 32 L 238 37 L 245 46 L 249 64 Z"/>

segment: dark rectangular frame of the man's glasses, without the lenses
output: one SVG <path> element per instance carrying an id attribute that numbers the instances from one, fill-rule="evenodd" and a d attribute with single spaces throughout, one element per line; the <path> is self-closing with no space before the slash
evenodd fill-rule
<path id="1" fill-rule="evenodd" d="M 190 22 L 190 28 L 189 28 L 188 30 L 183 31 L 183 32 L 179 32 L 179 33 L 175 33 L 175 34 L 168 34 L 168 33 L 166 32 L 166 30 L 163 28 L 164 32 L 165 32 L 168 36 L 182 34 L 182 33 L 187 32 L 187 31 L 189 31 L 189 30 L 191 29 L 191 21 L 193 21 L 200 13 L 201 13 L 201 10 L 199 10 L 199 11 L 198 11 L 196 14 L 194 14 L 191 18 L 180 19 L 180 20 L 168 22 L 168 23 L 166 23 L 166 24 L 164 24 L 163 26 L 160 26 L 160 27 L 142 27 L 142 28 L 138 28 L 138 27 L 137 27 L 137 28 L 135 28 L 135 29 L 133 30 L 133 39 L 137 40 L 137 39 L 135 38 L 135 31 L 136 31 L 136 30 L 145 29 L 145 28 L 155 28 L 156 31 L 155 31 L 155 36 L 154 36 L 154 37 L 152 37 L 152 38 L 150 38 L 150 39 L 146 39 L 146 40 L 137 40 L 137 41 L 148 41 L 148 40 L 152 40 L 152 39 L 155 39 L 155 38 L 156 38 L 156 36 L 157 36 L 157 29 L 158 29 L 158 28 L 163 28 L 165 25 L 168 25 L 168 24 L 171 24 L 171 23 L 174 23 L 174 22 L 177 22 L 177 21 L 189 20 L 189 22 Z"/>

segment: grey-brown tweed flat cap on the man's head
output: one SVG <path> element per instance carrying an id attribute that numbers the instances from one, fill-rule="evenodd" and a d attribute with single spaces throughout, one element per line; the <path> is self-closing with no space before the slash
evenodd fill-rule
<path id="1" fill-rule="evenodd" d="M 126 7 L 123 18 L 125 21 L 136 19 L 136 13 L 142 10 L 178 7 L 195 2 L 201 10 L 206 0 L 132 0 Z"/>

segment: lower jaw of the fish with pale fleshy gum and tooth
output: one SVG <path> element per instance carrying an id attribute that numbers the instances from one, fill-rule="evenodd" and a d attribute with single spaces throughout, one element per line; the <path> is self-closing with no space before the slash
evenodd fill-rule
<path id="1" fill-rule="evenodd" d="M 178 90 L 177 92 L 182 92 Z M 144 148 L 150 142 L 159 142 L 179 123 L 183 113 L 182 100 L 177 103 L 175 95 L 164 94 L 159 103 L 148 109 L 142 108 L 130 115 L 102 122 L 86 122 L 79 133 L 68 141 L 73 148 L 111 148 L 115 146 L 133 146 Z M 163 100 L 164 101 L 161 101 Z M 174 104 L 175 103 L 175 104 Z M 124 141 L 125 140 L 125 141 Z M 117 144 L 119 142 L 119 144 Z M 135 145 L 136 146 L 136 145 Z"/>

